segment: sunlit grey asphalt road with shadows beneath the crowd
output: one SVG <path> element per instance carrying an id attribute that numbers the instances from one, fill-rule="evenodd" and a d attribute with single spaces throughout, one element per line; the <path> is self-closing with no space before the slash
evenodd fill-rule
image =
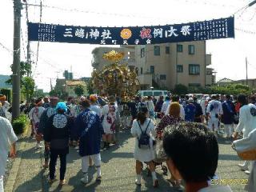
<path id="1" fill-rule="evenodd" d="M 231 149 L 229 141 L 219 138 L 219 161 L 218 178 L 248 178 L 238 168 L 239 160 L 237 154 Z M 96 170 L 90 168 L 90 183 L 86 186 L 80 182 L 82 178 L 81 159 L 74 148 L 70 148 L 67 156 L 67 169 L 65 186 L 59 187 L 58 181 L 49 185 L 47 182 L 48 170 L 42 170 L 42 150 L 34 150 L 34 140 L 28 139 L 26 149 L 22 151 L 22 162 L 18 171 L 14 191 L 177 191 L 166 182 L 168 176 L 162 174 L 160 167 L 157 169 L 160 186 L 158 189 L 152 187 L 152 180 L 143 172 L 142 186 L 134 184 L 135 161 L 133 158 L 134 138 L 129 130 L 120 133 L 120 146 L 111 146 L 110 150 L 102 151 L 102 182 L 95 182 Z M 57 166 L 58 169 L 59 165 Z M 57 178 L 58 171 L 57 171 Z M 233 191 L 244 191 L 242 184 L 231 185 Z"/>

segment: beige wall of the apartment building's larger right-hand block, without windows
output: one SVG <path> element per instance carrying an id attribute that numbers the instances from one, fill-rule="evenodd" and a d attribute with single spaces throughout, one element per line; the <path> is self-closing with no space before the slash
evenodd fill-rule
<path id="1" fill-rule="evenodd" d="M 177 51 L 178 45 L 182 46 L 182 52 Z M 190 45 L 194 46 L 194 54 L 189 54 Z M 160 55 L 154 55 L 154 46 L 160 46 Z M 170 54 L 166 53 L 166 47 L 170 47 Z M 142 49 L 145 49 L 145 57 L 141 57 Z M 157 82 L 160 87 L 166 86 L 168 89 L 174 89 L 176 84 L 206 86 L 206 66 L 211 64 L 211 57 L 210 54 L 206 55 L 205 41 L 135 46 L 135 55 L 138 75 L 149 74 L 150 66 L 154 66 L 153 82 Z M 190 64 L 199 65 L 200 73 L 190 74 Z M 176 65 L 182 66 L 182 72 L 176 72 Z M 166 75 L 166 80 L 160 78 L 162 75 Z M 147 84 L 150 87 L 153 86 L 153 82 L 141 83 Z"/>

